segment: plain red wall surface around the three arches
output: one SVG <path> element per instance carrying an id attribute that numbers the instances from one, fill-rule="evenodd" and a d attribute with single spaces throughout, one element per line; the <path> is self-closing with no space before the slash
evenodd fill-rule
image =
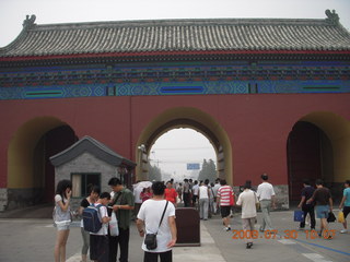
<path id="1" fill-rule="evenodd" d="M 268 172 L 275 184 L 288 183 L 287 139 L 293 124 L 313 111 L 331 111 L 350 120 L 350 94 L 258 94 L 202 96 L 89 97 L 1 100 L 0 188 L 7 187 L 7 151 L 26 121 L 51 116 L 81 138 L 91 135 L 132 160 L 147 124 L 173 107 L 196 107 L 211 115 L 229 134 L 234 183 L 259 182 Z"/>

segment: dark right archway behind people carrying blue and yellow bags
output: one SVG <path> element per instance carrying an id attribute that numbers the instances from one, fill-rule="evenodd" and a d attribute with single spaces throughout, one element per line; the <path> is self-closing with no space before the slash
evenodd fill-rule
<path id="1" fill-rule="evenodd" d="M 300 200 L 303 179 L 323 179 L 341 196 L 342 182 L 350 171 L 350 123 L 345 118 L 325 111 L 301 118 L 289 134 L 288 145 L 289 196 Z"/>

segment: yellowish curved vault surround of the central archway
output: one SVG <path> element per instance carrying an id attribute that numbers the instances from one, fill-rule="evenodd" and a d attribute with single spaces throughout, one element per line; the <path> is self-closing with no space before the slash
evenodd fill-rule
<path id="1" fill-rule="evenodd" d="M 191 128 L 203 134 L 212 144 L 217 153 L 218 177 L 233 182 L 232 146 L 226 132 L 209 114 L 192 107 L 177 107 L 156 116 L 142 131 L 136 148 L 137 177 L 147 179 L 145 164 L 150 148 L 165 132 L 176 128 Z M 144 145 L 144 146 L 142 146 Z"/>

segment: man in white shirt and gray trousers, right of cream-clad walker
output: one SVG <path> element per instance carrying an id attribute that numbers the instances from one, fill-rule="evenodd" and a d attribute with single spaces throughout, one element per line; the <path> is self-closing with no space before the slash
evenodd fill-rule
<path id="1" fill-rule="evenodd" d="M 272 209 L 276 209 L 276 194 L 272 184 L 267 181 L 269 179 L 267 174 L 262 174 L 261 179 L 262 182 L 258 186 L 256 192 L 259 198 L 262 212 L 262 225 L 260 227 L 260 231 L 273 230 L 270 217 L 270 206 L 272 204 Z"/>

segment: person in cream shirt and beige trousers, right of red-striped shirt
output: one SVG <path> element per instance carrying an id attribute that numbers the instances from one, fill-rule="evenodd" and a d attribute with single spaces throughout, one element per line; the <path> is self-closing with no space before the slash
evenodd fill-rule
<path id="1" fill-rule="evenodd" d="M 256 222 L 256 204 L 258 199 L 256 193 L 252 190 L 252 182 L 246 181 L 244 191 L 240 194 L 237 205 L 242 206 L 242 226 L 246 236 L 246 248 L 250 249 L 253 246 L 253 231 Z"/>

